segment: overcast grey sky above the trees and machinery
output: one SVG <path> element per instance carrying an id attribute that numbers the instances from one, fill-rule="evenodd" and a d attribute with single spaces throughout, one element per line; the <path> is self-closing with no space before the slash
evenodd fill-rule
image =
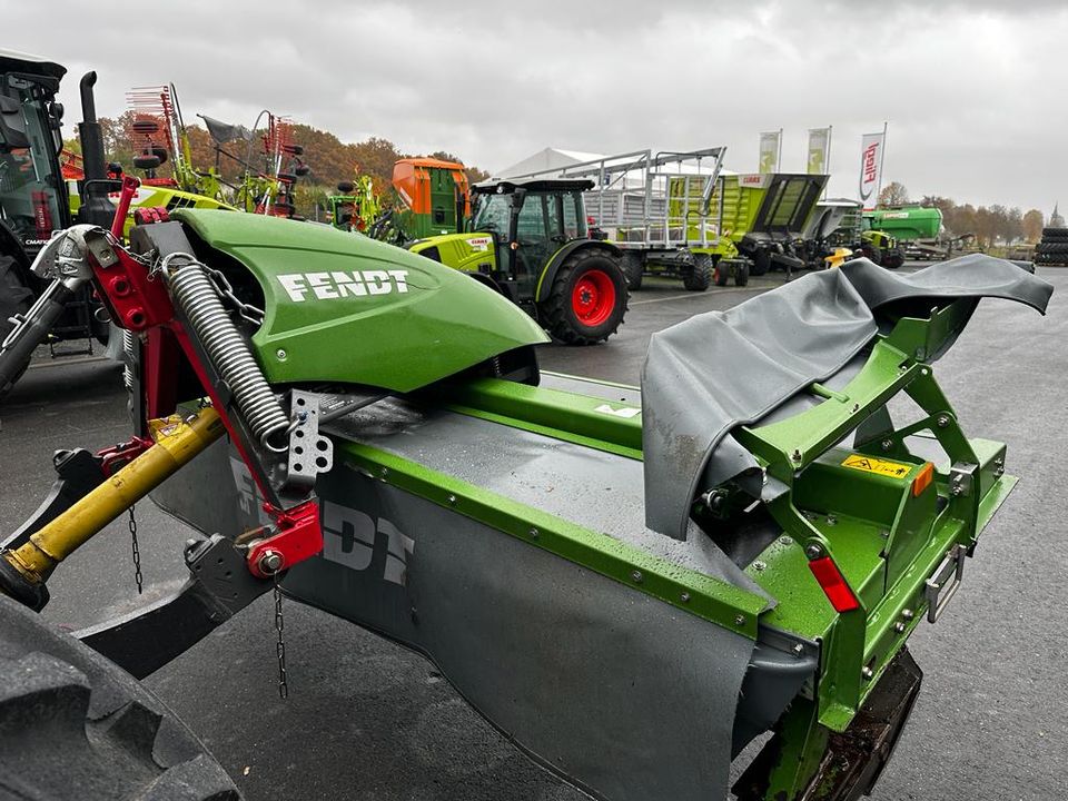
<path id="1" fill-rule="evenodd" d="M 889 121 L 886 180 L 1048 215 L 1068 206 L 1068 3 L 237 2 L 0 0 L 0 47 L 100 76 L 99 113 L 174 82 L 195 112 L 261 108 L 493 170 L 547 146 L 617 152 L 726 145 L 756 167 L 784 129 L 832 125 L 831 194 L 857 196 L 860 136 Z M 886 181 L 884 181 L 886 182 Z"/>

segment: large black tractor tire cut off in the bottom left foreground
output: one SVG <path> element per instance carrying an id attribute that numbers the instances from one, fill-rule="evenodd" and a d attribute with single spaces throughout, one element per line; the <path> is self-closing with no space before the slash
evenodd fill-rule
<path id="1" fill-rule="evenodd" d="M 0 596 L 0 798 L 239 801 L 204 743 L 137 680 Z"/>

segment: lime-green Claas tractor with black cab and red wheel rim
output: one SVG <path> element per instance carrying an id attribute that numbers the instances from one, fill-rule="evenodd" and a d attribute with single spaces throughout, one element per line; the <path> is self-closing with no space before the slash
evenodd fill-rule
<path id="1" fill-rule="evenodd" d="M 478 184 L 466 233 L 407 248 L 492 287 L 558 342 L 604 342 L 623 323 L 627 288 L 620 248 L 590 238 L 583 192 L 592 187 L 576 179 Z"/>

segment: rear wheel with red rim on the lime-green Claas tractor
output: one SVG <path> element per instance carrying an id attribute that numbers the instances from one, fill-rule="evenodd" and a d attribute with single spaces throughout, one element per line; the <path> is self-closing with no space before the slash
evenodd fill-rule
<path id="1" fill-rule="evenodd" d="M 583 286 L 596 285 L 610 308 L 584 322 L 576 309 Z M 597 247 L 573 251 L 556 271 L 548 297 L 538 305 L 542 325 L 565 345 L 595 345 L 615 334 L 626 315 L 626 277 L 620 259 Z"/>

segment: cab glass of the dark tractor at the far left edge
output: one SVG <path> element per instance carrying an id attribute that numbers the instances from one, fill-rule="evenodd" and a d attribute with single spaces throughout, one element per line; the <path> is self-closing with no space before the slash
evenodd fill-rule
<path id="1" fill-rule="evenodd" d="M 21 78 L 0 82 L 0 218 L 23 246 L 42 245 L 65 227 L 57 136 L 41 88 Z"/>

